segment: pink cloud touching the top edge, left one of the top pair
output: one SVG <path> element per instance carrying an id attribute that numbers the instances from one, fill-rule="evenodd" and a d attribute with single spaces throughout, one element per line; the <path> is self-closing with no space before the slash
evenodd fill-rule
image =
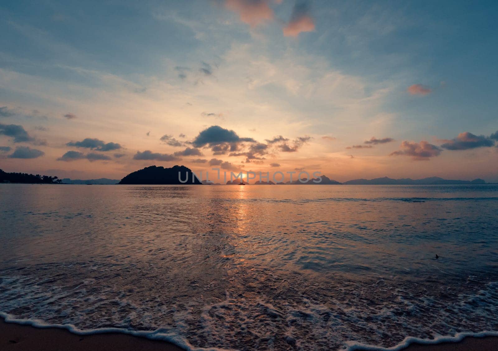
<path id="1" fill-rule="evenodd" d="M 225 7 L 239 13 L 241 21 L 255 27 L 273 19 L 269 0 L 225 0 Z"/>

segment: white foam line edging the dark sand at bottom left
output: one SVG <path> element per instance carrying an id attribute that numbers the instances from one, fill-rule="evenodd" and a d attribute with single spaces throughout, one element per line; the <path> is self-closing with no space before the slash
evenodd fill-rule
<path id="1" fill-rule="evenodd" d="M 59 328 L 66 329 L 67 331 L 76 335 L 93 335 L 93 334 L 108 334 L 108 333 L 119 333 L 127 334 L 135 337 L 142 337 L 150 340 L 165 341 L 174 344 L 186 351 L 234 351 L 230 349 L 219 349 L 219 348 L 194 348 L 186 340 L 181 339 L 177 334 L 167 333 L 164 329 L 157 329 L 155 331 L 136 331 L 121 328 L 96 328 L 96 329 L 78 329 L 72 324 L 47 324 L 43 321 L 36 319 L 16 319 L 14 316 L 8 313 L 0 312 L 0 317 L 2 317 L 6 323 L 14 323 L 24 326 L 31 326 L 35 328 Z"/>

